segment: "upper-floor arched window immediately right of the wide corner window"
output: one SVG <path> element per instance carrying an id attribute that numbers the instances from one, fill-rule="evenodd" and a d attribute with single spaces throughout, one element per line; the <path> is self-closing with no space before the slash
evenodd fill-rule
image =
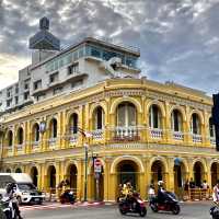
<path id="1" fill-rule="evenodd" d="M 161 128 L 161 111 L 158 105 L 151 105 L 149 110 L 149 126 L 151 128 Z"/>

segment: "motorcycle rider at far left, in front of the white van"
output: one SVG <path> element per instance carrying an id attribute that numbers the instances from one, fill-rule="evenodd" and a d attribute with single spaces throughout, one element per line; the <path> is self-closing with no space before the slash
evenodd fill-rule
<path id="1" fill-rule="evenodd" d="M 13 209 L 15 210 L 15 212 L 16 212 L 16 216 L 19 217 L 19 219 L 23 219 L 21 217 L 21 211 L 19 210 L 19 201 L 18 201 L 16 195 L 15 195 L 16 184 L 15 183 L 9 183 L 7 185 L 5 189 L 7 189 L 5 196 L 11 199 L 12 206 L 13 206 Z"/>

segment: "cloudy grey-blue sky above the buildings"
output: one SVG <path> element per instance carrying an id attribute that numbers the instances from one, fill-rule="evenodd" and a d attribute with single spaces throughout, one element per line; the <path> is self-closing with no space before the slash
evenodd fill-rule
<path id="1" fill-rule="evenodd" d="M 0 0 L 0 89 L 31 62 L 42 16 L 62 46 L 110 37 L 140 48 L 149 79 L 219 91 L 219 0 Z"/>

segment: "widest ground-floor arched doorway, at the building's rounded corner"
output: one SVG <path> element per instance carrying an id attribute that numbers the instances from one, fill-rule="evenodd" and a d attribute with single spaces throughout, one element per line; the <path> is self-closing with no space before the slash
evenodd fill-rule
<path id="1" fill-rule="evenodd" d="M 117 165 L 117 185 L 130 182 L 134 189 L 139 188 L 138 165 L 131 160 L 120 161 Z"/>

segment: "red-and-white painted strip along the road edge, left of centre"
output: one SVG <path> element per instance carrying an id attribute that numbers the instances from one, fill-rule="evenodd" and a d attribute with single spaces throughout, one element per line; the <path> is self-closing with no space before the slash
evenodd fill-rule
<path id="1" fill-rule="evenodd" d="M 20 206 L 21 211 L 27 211 L 27 210 L 46 210 L 46 209 L 57 209 L 57 208 L 80 208 L 80 207 L 95 207 L 95 206 L 101 206 L 104 205 L 104 203 L 74 203 L 73 205 L 71 204 L 60 204 L 60 203 L 45 203 L 43 205 L 22 205 Z"/>

